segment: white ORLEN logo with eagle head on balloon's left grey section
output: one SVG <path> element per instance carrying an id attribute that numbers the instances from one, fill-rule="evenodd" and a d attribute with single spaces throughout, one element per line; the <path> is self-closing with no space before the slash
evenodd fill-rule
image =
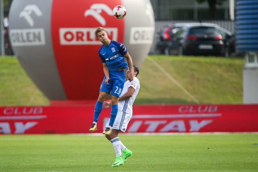
<path id="1" fill-rule="evenodd" d="M 37 17 L 42 16 L 42 12 L 37 5 L 26 5 L 19 15 L 19 18 L 25 18 L 30 27 L 34 26 L 34 20 L 31 17 L 32 12 Z M 10 39 L 12 46 L 45 45 L 45 31 L 44 28 L 11 29 Z"/>

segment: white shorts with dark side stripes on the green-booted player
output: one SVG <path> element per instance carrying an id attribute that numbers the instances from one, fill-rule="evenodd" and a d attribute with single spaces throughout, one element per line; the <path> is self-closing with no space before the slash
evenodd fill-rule
<path id="1" fill-rule="evenodd" d="M 131 117 L 132 117 L 131 114 L 128 114 L 118 109 L 117 117 L 115 119 L 115 122 L 112 128 L 116 130 L 121 130 L 125 133 L 127 125 L 131 120 Z M 108 127 L 109 121 L 110 119 L 108 120 L 106 127 Z"/>

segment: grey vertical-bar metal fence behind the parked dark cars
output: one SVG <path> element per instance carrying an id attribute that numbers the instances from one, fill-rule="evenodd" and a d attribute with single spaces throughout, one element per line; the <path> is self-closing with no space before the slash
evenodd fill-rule
<path id="1" fill-rule="evenodd" d="M 163 28 L 166 25 L 170 25 L 173 23 L 193 23 L 193 22 L 199 22 L 197 20 L 173 20 L 173 21 L 155 21 L 155 35 L 154 40 L 151 46 L 150 54 L 155 54 L 156 52 L 156 33 L 160 31 L 161 28 Z M 227 29 L 228 31 L 235 33 L 235 21 L 230 20 L 203 20 L 203 23 L 214 23 L 217 25 L 220 25 L 222 28 Z"/>

